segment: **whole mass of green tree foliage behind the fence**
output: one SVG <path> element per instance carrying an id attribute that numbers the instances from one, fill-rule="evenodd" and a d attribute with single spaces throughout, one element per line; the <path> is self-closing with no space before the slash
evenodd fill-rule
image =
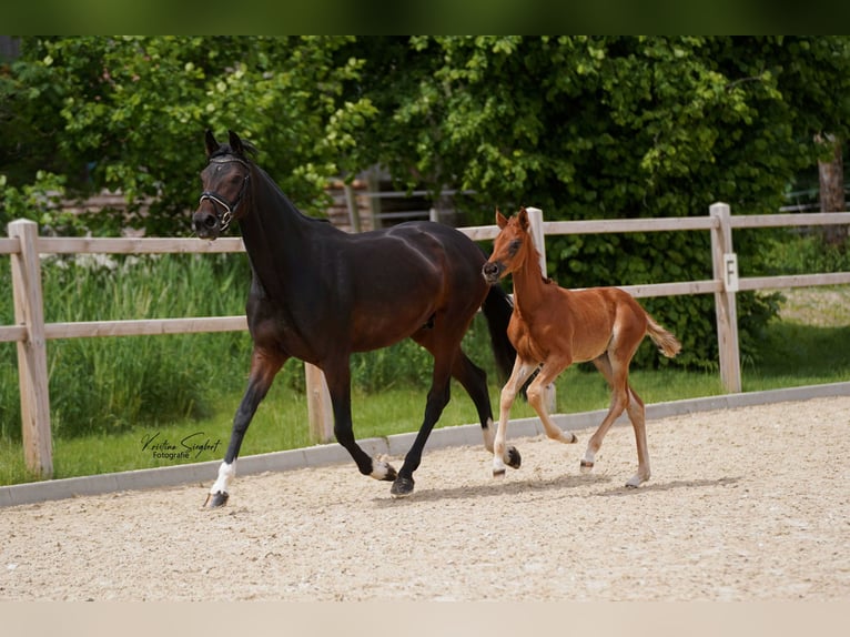
<path id="1" fill-rule="evenodd" d="M 816 136 L 850 133 L 847 37 L 54 37 L 22 50 L 0 72 L 0 222 L 62 233 L 189 232 L 208 127 L 255 141 L 312 214 L 327 178 L 381 163 L 403 188 L 473 191 L 464 225 L 519 205 L 549 220 L 705 215 L 716 201 L 771 213 L 823 155 Z M 58 196 L 104 188 L 129 214 L 57 215 Z M 763 269 L 766 236 L 736 233 L 742 269 Z M 710 277 L 706 232 L 559 237 L 547 254 L 565 286 Z M 739 299 L 748 353 L 775 300 Z M 716 364 L 710 297 L 647 306 L 685 343 L 674 364 Z M 644 348 L 638 364 L 667 363 Z"/>

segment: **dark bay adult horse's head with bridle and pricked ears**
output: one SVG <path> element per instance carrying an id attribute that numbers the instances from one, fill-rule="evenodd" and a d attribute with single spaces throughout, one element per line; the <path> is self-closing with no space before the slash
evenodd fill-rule
<path id="1" fill-rule="evenodd" d="M 233 131 L 230 131 L 229 141 L 230 144 L 220 144 L 212 131 L 206 131 L 209 163 L 201 172 L 203 192 L 192 215 L 192 224 L 201 239 L 217 237 L 227 230 L 232 220 L 244 214 L 240 211 L 240 204 L 249 194 L 251 176 L 251 163 L 245 151 L 252 146 L 243 143 Z"/>

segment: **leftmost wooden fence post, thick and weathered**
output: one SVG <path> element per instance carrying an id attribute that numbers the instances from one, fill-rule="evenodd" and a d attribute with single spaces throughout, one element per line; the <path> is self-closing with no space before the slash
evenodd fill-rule
<path id="1" fill-rule="evenodd" d="M 42 478 L 53 477 L 53 444 L 50 435 L 50 396 L 41 293 L 39 226 L 20 219 L 9 224 L 9 236 L 18 237 L 21 251 L 12 254 L 14 321 L 27 327 L 18 341 L 18 378 L 21 387 L 21 435 L 27 468 Z"/>

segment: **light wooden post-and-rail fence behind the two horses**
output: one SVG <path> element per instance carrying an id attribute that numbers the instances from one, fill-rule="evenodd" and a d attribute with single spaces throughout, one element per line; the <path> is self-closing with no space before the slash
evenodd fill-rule
<path id="1" fill-rule="evenodd" d="M 732 230 L 735 229 L 850 224 L 850 212 L 733 216 L 727 204 L 716 203 L 710 206 L 709 215 L 700 218 L 543 221 L 540 210 L 528 209 L 528 211 L 535 242 L 542 253 L 544 272 L 546 271 L 544 239 L 547 235 L 662 231 L 710 232 L 712 279 L 623 285 L 621 287 L 637 297 L 714 294 L 717 312 L 720 377 L 727 392 L 740 392 L 741 390 L 736 314 L 737 292 L 850 283 L 850 272 L 741 277 L 738 274 L 738 260 L 732 246 Z M 492 240 L 498 234 L 498 228 L 495 225 L 462 228 L 459 230 L 476 241 Z M 38 235 L 38 225 L 34 222 L 18 220 L 9 224 L 9 237 L 0 239 L 0 254 L 9 254 L 12 260 L 16 324 L 0 326 L 0 342 L 14 341 L 18 343 L 23 453 L 30 471 L 42 477 L 51 477 L 53 474 L 47 365 L 47 342 L 49 340 L 229 332 L 247 328 L 244 315 L 45 323 L 40 255 L 230 253 L 242 251 L 244 251 L 244 246 L 241 239 L 219 239 L 212 242 L 200 239 L 42 237 Z M 321 371 L 312 365 L 306 367 L 312 436 L 318 442 L 326 442 L 333 436 L 330 396 Z"/>

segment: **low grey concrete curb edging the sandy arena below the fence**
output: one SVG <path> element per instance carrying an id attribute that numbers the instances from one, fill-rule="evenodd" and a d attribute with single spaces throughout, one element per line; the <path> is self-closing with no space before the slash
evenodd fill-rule
<path id="1" fill-rule="evenodd" d="M 655 421 L 681 414 L 692 414 L 716 410 L 747 407 L 791 401 L 807 401 L 831 396 L 850 396 L 850 382 L 808 385 L 767 392 L 726 394 L 669 403 L 647 405 L 647 419 Z M 583 412 L 579 414 L 556 414 L 553 419 L 565 431 L 584 429 L 597 425 L 606 410 Z M 621 416 L 617 424 L 628 423 Z M 512 438 L 544 435 L 539 418 L 518 418 L 510 421 Z M 396 434 L 383 438 L 358 441 L 361 446 L 373 456 L 386 454 L 403 456 L 413 444 L 415 433 Z M 442 448 L 461 445 L 480 445 L 482 434 L 478 425 L 461 425 L 434 429 L 426 448 Z M 318 445 L 301 449 L 274 452 L 244 456 L 239 459 L 239 475 L 282 472 L 305 467 L 318 467 L 351 462 L 348 453 L 337 444 Z M 94 476 L 63 478 L 45 482 L 27 483 L 0 487 L 0 508 L 21 504 L 63 499 L 83 495 L 100 495 L 124 491 L 162 488 L 198 483 L 212 484 L 221 461 L 139 469 Z"/>

